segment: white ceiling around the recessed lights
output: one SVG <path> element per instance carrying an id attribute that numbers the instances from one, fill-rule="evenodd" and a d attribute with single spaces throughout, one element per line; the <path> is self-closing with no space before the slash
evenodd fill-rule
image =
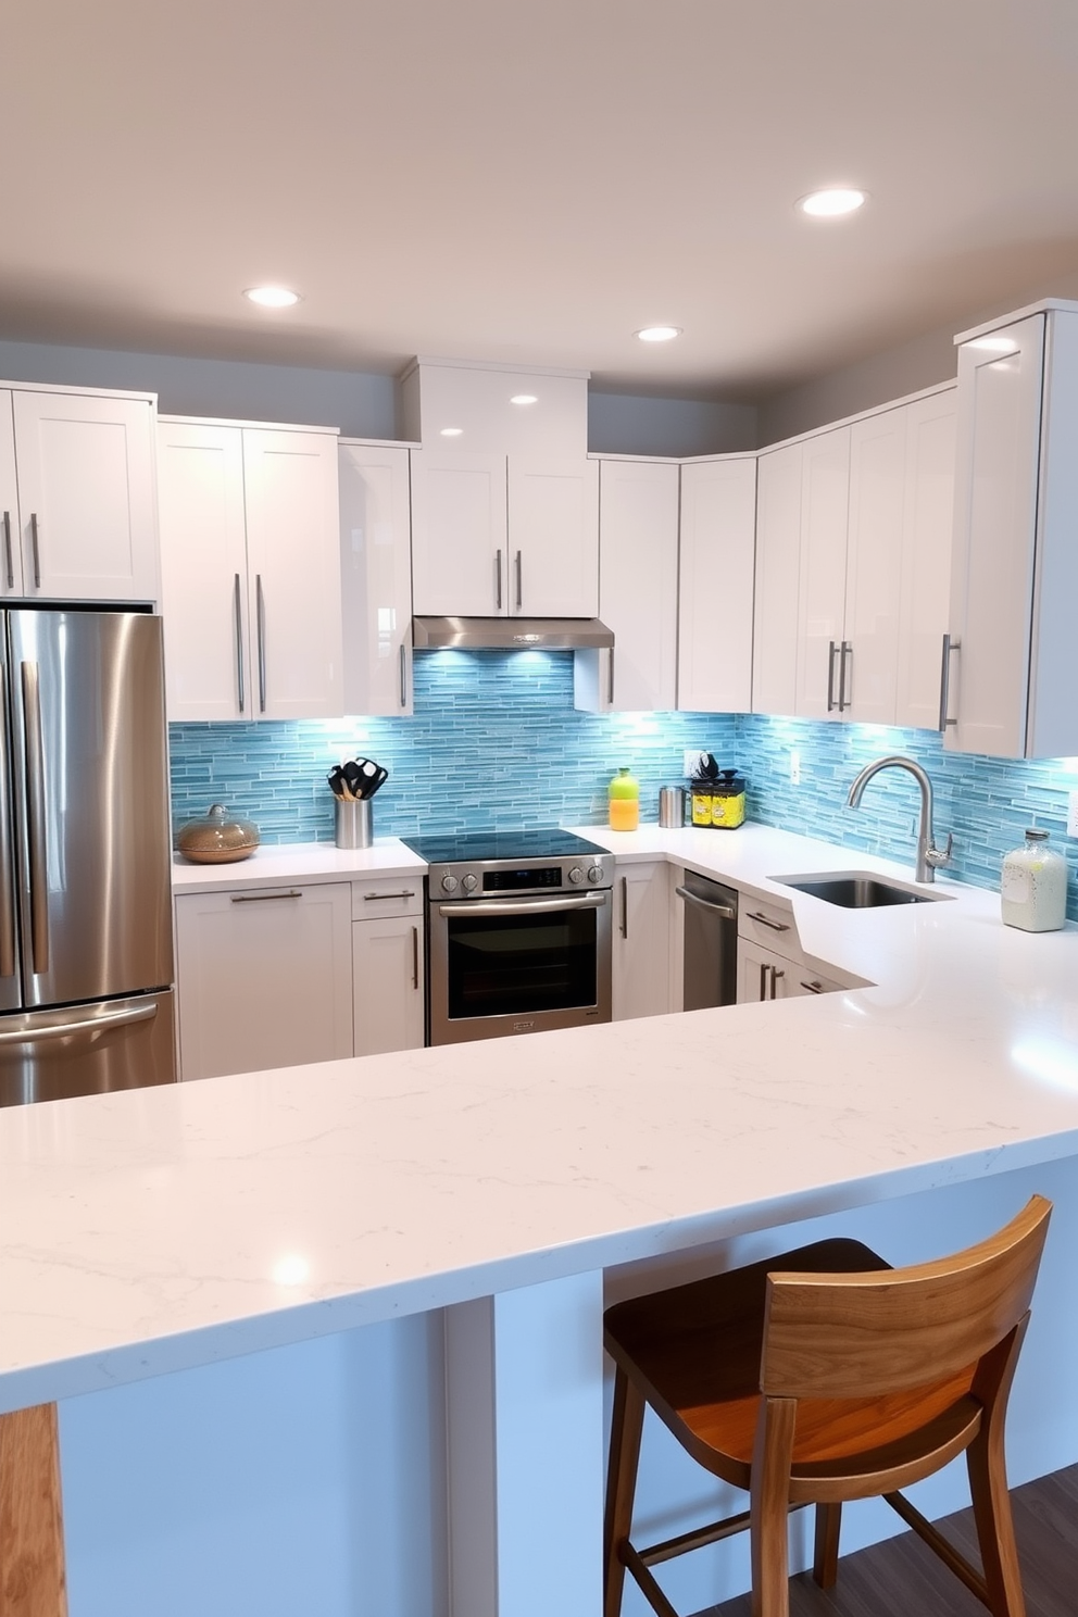
<path id="1" fill-rule="evenodd" d="M 1078 272 L 1075 0 L 10 0 L 0 82 L 10 340 L 755 399 Z"/>

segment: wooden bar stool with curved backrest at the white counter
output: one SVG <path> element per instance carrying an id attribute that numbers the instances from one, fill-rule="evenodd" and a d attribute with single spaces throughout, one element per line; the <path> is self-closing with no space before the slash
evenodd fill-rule
<path id="1" fill-rule="evenodd" d="M 823 1240 L 729 1274 L 617 1303 L 606 1488 L 606 1617 L 625 1567 L 659 1617 L 651 1567 L 748 1528 L 753 1617 L 789 1617 L 787 1515 L 816 1505 L 813 1575 L 836 1581 L 844 1499 L 882 1496 L 992 1617 L 1025 1617 L 1004 1468 L 1004 1416 L 1051 1203 L 952 1258 L 892 1269 Z M 629 1539 L 645 1404 L 747 1512 L 635 1549 Z M 965 1450 L 984 1573 L 900 1488 Z"/>

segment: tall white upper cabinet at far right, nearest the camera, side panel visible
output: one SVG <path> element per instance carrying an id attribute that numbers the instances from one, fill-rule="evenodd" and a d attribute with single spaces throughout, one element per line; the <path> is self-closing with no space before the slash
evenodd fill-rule
<path id="1" fill-rule="evenodd" d="M 1078 754 L 1078 309 L 958 348 L 947 747 Z"/>

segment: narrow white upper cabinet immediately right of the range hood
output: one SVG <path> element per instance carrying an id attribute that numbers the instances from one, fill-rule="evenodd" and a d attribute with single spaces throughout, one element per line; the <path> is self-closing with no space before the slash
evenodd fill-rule
<path id="1" fill-rule="evenodd" d="M 575 705 L 667 713 L 677 699 L 677 466 L 600 464 L 600 603 L 613 652 L 577 652 Z"/>

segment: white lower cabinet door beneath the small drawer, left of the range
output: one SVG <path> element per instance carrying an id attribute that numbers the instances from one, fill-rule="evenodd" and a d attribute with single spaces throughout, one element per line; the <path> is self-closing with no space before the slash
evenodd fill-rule
<path id="1" fill-rule="evenodd" d="M 356 1054 L 423 1046 L 423 917 L 352 925 Z"/>

